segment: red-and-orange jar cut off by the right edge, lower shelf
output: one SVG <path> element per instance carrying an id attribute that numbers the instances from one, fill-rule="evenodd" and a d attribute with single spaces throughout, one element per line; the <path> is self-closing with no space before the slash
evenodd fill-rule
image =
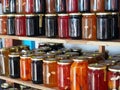
<path id="1" fill-rule="evenodd" d="M 111 66 L 108 68 L 108 89 L 120 89 L 120 65 Z"/>

